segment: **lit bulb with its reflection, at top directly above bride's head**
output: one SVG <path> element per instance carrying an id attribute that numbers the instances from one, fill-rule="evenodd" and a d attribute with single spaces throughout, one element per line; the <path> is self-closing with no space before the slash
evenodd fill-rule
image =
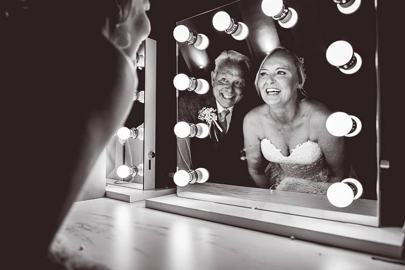
<path id="1" fill-rule="evenodd" d="M 263 0 L 262 10 L 264 14 L 278 21 L 283 28 L 291 28 L 297 24 L 297 11 L 287 7 L 282 0 Z"/>

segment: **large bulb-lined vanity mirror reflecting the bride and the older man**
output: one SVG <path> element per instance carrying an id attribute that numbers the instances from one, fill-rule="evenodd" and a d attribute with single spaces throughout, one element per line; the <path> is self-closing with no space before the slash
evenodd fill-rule
<path id="1" fill-rule="evenodd" d="M 375 2 L 357 0 L 240 0 L 178 22 L 177 195 L 379 226 L 376 31 Z"/>

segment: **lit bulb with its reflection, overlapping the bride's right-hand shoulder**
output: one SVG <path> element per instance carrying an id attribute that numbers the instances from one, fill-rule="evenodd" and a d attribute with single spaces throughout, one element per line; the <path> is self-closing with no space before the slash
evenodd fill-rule
<path id="1" fill-rule="evenodd" d="M 336 112 L 326 119 L 326 130 L 336 137 L 353 137 L 361 130 L 361 121 L 353 115 Z"/>

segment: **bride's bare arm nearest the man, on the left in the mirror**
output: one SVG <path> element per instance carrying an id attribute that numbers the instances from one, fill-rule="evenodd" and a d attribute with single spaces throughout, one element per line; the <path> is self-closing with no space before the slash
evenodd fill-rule
<path id="1" fill-rule="evenodd" d="M 265 160 L 260 148 L 260 139 L 257 131 L 261 130 L 262 126 L 256 110 L 246 114 L 243 120 L 243 137 L 247 161 L 247 169 L 254 183 L 261 188 L 270 188 L 270 183 L 265 176 Z"/>

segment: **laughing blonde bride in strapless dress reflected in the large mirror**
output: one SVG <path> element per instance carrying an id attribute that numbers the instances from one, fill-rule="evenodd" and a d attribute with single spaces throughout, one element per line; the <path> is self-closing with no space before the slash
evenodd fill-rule
<path id="1" fill-rule="evenodd" d="M 256 74 L 265 104 L 246 114 L 243 135 L 249 175 L 258 187 L 291 178 L 339 182 L 347 174 L 344 139 L 326 130 L 331 112 L 325 105 L 300 100 L 304 83 L 303 61 L 284 47 L 272 50 Z"/>

